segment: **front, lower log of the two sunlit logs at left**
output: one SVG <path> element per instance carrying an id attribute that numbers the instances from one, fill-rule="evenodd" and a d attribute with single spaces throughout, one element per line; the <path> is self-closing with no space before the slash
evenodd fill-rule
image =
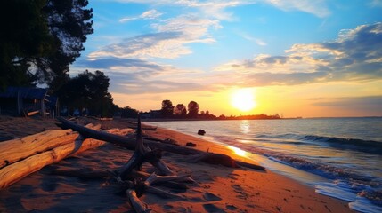
<path id="1" fill-rule="evenodd" d="M 71 155 L 80 154 L 87 149 L 104 145 L 104 141 L 88 138 L 78 148 L 75 143 L 58 146 L 41 154 L 35 154 L 20 162 L 14 162 L 0 170 L 0 189 L 16 183 L 23 177 L 42 169 L 46 165 L 60 162 Z"/>

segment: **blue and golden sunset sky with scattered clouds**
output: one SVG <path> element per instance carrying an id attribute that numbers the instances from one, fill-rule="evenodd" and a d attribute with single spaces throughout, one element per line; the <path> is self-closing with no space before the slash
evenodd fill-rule
<path id="1" fill-rule="evenodd" d="M 382 0 L 89 0 L 89 7 L 94 33 L 70 73 L 104 72 L 118 106 L 145 112 L 169 99 L 196 101 L 217 116 L 382 116 Z M 250 91 L 243 99 L 254 107 L 234 107 L 240 90 Z"/>

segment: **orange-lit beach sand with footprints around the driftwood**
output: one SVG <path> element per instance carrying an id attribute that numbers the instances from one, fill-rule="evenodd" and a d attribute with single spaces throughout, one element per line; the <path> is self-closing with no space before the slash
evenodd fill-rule
<path id="1" fill-rule="evenodd" d="M 102 128 L 124 129 L 130 123 L 116 119 L 102 123 Z M 52 119 L 0 116 L 0 138 L 18 138 L 43 130 L 59 129 Z M 187 142 L 214 153 L 233 154 L 230 148 L 158 128 L 144 130 L 154 138 L 173 139 L 180 146 Z M 133 151 L 107 144 L 61 162 L 46 166 L 20 182 L 0 191 L 0 212 L 134 212 L 126 193 L 108 179 L 81 179 L 52 175 L 53 170 L 79 168 L 116 170 L 125 164 Z M 345 201 L 314 193 L 312 187 L 297 183 L 269 170 L 228 168 L 203 162 L 185 162 L 185 156 L 163 153 L 163 161 L 177 174 L 190 174 L 196 183 L 188 189 L 159 188 L 182 195 L 184 199 L 163 199 L 144 193 L 140 198 L 152 212 L 354 212 Z M 241 158 L 241 160 L 244 160 Z M 248 161 L 248 160 L 247 160 Z M 256 163 L 256 162 L 252 162 Z M 143 164 L 143 170 L 152 167 Z"/>

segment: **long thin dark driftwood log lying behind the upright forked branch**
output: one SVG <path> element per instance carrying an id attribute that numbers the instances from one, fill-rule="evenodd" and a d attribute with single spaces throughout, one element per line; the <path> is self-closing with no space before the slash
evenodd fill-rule
<path id="1" fill-rule="evenodd" d="M 78 131 L 81 135 L 83 135 L 86 138 L 96 138 L 96 139 L 110 142 L 118 146 L 126 147 L 127 149 L 131 149 L 131 150 L 135 149 L 136 140 L 134 138 L 127 138 L 124 136 L 113 135 L 107 132 L 91 130 L 91 129 L 85 128 L 84 126 L 78 125 L 74 122 L 69 122 L 68 120 L 62 117 L 58 117 L 57 119 L 62 123 L 63 126 L 70 128 L 72 130 Z M 183 155 L 197 154 L 196 156 L 207 156 L 207 157 L 201 157 L 199 160 L 202 162 L 207 162 L 207 163 L 214 162 L 212 161 L 212 159 L 214 158 L 213 153 L 206 153 L 188 146 L 174 146 L 171 144 L 164 144 L 158 141 L 152 141 L 148 139 L 144 139 L 142 141 L 144 142 L 145 146 L 148 146 L 151 149 L 164 150 L 164 151 L 175 153 L 175 154 L 183 154 Z M 233 160 L 230 156 L 226 154 L 217 154 L 217 155 L 219 156 L 216 159 L 225 159 L 226 161 L 228 161 L 227 163 L 225 162 L 222 163 L 226 166 L 229 166 L 231 164 L 231 165 L 234 165 L 234 167 L 242 166 L 242 167 L 247 167 L 254 170 L 265 170 L 264 167 L 256 165 L 256 164 Z M 222 157 L 223 155 L 224 157 Z M 216 163 L 219 163 L 219 162 L 216 162 Z M 159 164 L 160 164 L 160 161 L 159 161 Z"/>

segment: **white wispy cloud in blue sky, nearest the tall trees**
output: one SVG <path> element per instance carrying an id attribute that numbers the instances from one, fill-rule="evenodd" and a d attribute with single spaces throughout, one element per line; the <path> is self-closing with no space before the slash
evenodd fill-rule
<path id="1" fill-rule="evenodd" d="M 217 20 L 200 19 L 182 15 L 152 24 L 156 33 L 134 36 L 121 43 L 113 43 L 93 51 L 89 59 L 115 58 L 164 58 L 175 59 L 192 51 L 187 43 L 214 43 L 208 35 L 209 28 L 222 28 Z"/>

